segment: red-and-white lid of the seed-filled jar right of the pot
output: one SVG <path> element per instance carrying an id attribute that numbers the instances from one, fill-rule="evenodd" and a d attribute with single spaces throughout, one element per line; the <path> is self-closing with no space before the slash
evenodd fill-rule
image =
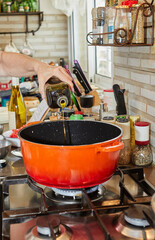
<path id="1" fill-rule="evenodd" d="M 149 122 L 135 122 L 135 143 L 137 145 L 149 144 Z"/>

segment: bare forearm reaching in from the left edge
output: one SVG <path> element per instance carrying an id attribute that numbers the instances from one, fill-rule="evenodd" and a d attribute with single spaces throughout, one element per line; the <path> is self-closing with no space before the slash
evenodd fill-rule
<path id="1" fill-rule="evenodd" d="M 27 77 L 37 74 L 40 61 L 19 54 L 0 52 L 0 76 Z"/>

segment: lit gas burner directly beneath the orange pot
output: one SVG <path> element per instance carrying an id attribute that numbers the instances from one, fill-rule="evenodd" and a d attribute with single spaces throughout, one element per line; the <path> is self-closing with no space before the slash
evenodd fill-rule
<path id="1" fill-rule="evenodd" d="M 85 191 L 91 198 L 91 201 L 96 202 L 103 198 L 106 189 L 103 185 L 98 185 L 91 188 L 86 188 Z M 46 187 L 44 189 L 44 193 L 49 200 L 60 204 L 81 203 L 82 200 L 82 189 L 58 189 Z"/>

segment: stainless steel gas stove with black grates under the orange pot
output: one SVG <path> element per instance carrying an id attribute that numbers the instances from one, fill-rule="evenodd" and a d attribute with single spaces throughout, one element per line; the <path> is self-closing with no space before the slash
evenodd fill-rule
<path id="1" fill-rule="evenodd" d="M 1 178 L 3 240 L 155 239 L 155 188 L 143 168 L 124 166 L 104 184 L 64 190 L 34 182 L 22 164 L 14 162 L 18 174 Z"/>

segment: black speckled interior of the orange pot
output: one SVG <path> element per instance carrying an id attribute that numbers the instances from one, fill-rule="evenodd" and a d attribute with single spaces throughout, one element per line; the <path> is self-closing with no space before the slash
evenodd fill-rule
<path id="1" fill-rule="evenodd" d="M 88 145 L 112 140 L 122 131 L 115 125 L 103 122 L 74 120 L 44 122 L 28 126 L 19 132 L 24 140 L 46 145 Z"/>

